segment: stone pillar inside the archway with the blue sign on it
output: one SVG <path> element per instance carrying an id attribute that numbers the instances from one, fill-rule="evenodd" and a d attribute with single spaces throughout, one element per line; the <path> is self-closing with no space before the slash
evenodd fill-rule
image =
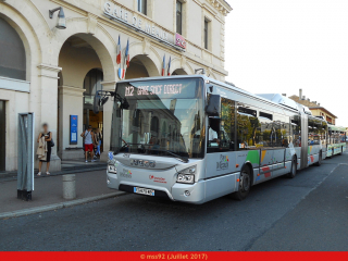
<path id="1" fill-rule="evenodd" d="M 59 87 L 59 157 L 62 160 L 84 159 L 83 138 L 79 134 L 84 127 L 84 92 L 82 87 Z M 77 115 L 77 145 L 70 145 L 70 115 Z M 73 148 L 66 150 L 66 148 Z M 74 149 L 76 148 L 76 149 Z"/>

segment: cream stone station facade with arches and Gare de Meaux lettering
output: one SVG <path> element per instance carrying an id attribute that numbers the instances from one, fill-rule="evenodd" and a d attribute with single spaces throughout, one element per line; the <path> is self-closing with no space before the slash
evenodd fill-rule
<path id="1" fill-rule="evenodd" d="M 49 124 L 51 171 L 83 157 L 82 138 L 72 141 L 72 115 L 78 134 L 88 124 L 100 128 L 108 151 L 112 102 L 96 115 L 91 100 L 120 80 L 119 39 L 123 55 L 129 42 L 125 78 L 160 76 L 165 57 L 171 74 L 204 69 L 224 80 L 231 11 L 225 0 L 0 0 L 0 171 L 16 170 L 21 112 L 35 113 L 36 134 Z"/>

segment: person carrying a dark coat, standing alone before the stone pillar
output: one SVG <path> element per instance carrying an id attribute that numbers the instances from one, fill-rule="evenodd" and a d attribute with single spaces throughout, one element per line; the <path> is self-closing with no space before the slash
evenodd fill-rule
<path id="1" fill-rule="evenodd" d="M 50 175 L 50 161 L 51 161 L 51 151 L 52 151 L 52 133 L 48 130 L 48 124 L 42 124 L 42 132 L 37 138 L 39 144 L 37 148 L 37 154 L 39 158 L 39 173 L 38 176 L 41 176 L 42 162 L 46 162 L 46 175 Z"/>

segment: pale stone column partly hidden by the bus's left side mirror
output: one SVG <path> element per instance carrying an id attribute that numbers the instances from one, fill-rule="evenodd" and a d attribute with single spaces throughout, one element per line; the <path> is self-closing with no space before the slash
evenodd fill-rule
<path id="1" fill-rule="evenodd" d="M 103 82 L 102 87 L 103 90 L 115 91 L 116 82 Z M 110 150 L 113 102 L 113 99 L 109 99 L 109 101 L 103 105 L 103 152 L 100 157 L 101 161 L 108 161 L 108 152 Z"/>

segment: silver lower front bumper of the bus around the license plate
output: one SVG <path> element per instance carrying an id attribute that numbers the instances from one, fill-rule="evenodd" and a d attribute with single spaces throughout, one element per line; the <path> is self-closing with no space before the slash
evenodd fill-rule
<path id="1" fill-rule="evenodd" d="M 112 189 L 119 189 L 122 191 L 134 194 L 134 187 L 141 187 L 154 190 L 154 197 L 167 198 L 173 201 L 183 201 L 187 203 L 200 204 L 204 202 L 206 183 L 203 181 L 195 184 L 182 184 L 175 183 L 171 187 L 171 191 L 161 186 L 149 186 L 144 184 L 137 184 L 129 181 L 121 181 L 115 173 L 107 172 L 108 187 Z"/>

